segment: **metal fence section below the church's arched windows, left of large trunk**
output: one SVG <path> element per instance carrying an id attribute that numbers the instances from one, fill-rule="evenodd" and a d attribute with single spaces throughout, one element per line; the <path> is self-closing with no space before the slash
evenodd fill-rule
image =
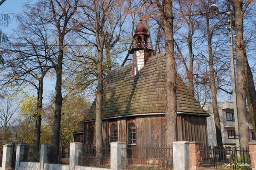
<path id="1" fill-rule="evenodd" d="M 172 170 L 172 147 L 137 147 L 127 145 L 125 152 L 125 170 Z M 122 167 L 124 169 L 124 167 Z"/>

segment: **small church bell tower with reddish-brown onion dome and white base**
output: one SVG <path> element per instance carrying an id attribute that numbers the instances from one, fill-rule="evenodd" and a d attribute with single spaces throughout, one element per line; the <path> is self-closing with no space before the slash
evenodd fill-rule
<path id="1" fill-rule="evenodd" d="M 136 27 L 134 31 L 134 47 L 131 49 L 130 54 L 132 54 L 132 75 L 133 77 L 147 64 L 148 58 L 151 56 L 153 50 L 148 48 L 148 28 L 142 23 Z"/>

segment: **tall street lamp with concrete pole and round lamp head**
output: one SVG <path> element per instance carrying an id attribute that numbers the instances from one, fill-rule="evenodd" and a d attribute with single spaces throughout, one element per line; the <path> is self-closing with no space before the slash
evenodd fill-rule
<path id="1" fill-rule="evenodd" d="M 237 102 L 236 102 L 236 75 L 235 75 L 235 63 L 234 63 L 234 48 L 233 48 L 233 33 L 232 33 L 232 16 L 231 11 L 228 11 L 229 14 L 229 29 L 227 30 L 226 26 L 222 22 L 221 18 L 219 17 L 219 10 L 216 4 L 212 4 L 210 6 L 210 11 L 215 13 L 218 16 L 221 24 L 226 29 L 227 33 L 230 35 L 230 61 L 231 61 L 231 74 L 232 74 L 232 89 L 233 89 L 233 106 L 234 106 L 234 116 L 235 116 L 235 130 L 236 130 L 236 147 L 240 147 L 240 133 L 239 133 L 239 117 L 237 114 Z"/>

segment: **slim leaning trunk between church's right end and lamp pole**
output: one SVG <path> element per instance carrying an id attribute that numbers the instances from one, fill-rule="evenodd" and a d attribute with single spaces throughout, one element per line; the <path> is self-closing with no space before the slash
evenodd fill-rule
<path id="1" fill-rule="evenodd" d="M 205 6 L 205 8 L 207 10 L 207 6 Z M 217 145 L 220 147 L 223 147 L 222 136 L 221 136 L 221 123 L 220 123 L 220 117 L 219 117 L 218 105 L 217 105 L 217 89 L 215 85 L 215 75 L 214 75 L 214 65 L 213 65 L 213 55 L 212 55 L 212 35 L 210 33 L 210 26 L 209 26 L 209 13 L 206 14 L 206 24 L 207 24 L 207 41 L 208 41 L 208 54 L 209 54 L 210 86 L 212 91 L 212 112 L 213 112 L 213 117 L 215 122 Z"/>

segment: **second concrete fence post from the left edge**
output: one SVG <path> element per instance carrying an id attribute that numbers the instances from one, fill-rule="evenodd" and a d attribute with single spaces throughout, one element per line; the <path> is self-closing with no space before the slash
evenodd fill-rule
<path id="1" fill-rule="evenodd" d="M 16 161 L 15 161 L 15 170 L 18 170 L 20 167 L 20 162 L 28 156 L 29 153 L 29 144 L 21 143 L 17 144 L 16 148 Z"/>

